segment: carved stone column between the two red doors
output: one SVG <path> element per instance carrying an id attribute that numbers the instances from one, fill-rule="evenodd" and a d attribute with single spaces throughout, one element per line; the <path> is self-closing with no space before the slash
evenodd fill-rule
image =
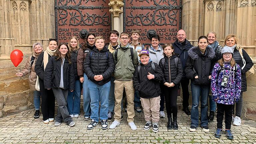
<path id="1" fill-rule="evenodd" d="M 108 6 L 111 8 L 109 12 L 113 17 L 113 27 L 112 29 L 117 30 L 119 33 L 120 29 L 120 14 L 123 13 L 122 7 L 124 6 L 123 0 L 110 0 Z"/>

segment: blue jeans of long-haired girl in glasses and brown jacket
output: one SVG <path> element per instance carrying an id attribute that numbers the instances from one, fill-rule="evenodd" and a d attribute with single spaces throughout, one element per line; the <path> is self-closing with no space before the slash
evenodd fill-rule
<path id="1" fill-rule="evenodd" d="M 89 89 L 88 89 L 88 81 L 89 81 L 88 77 L 84 73 L 84 82 L 83 82 L 84 116 L 90 116 L 91 115 L 91 107 L 90 107 L 91 98 L 90 98 Z"/>

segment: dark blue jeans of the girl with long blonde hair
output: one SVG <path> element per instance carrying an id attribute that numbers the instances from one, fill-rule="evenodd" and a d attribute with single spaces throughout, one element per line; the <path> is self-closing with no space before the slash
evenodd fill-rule
<path id="1" fill-rule="evenodd" d="M 68 91 L 67 108 L 69 115 L 80 114 L 81 90 L 82 83 L 80 80 L 75 80 L 75 90 L 73 92 Z"/>

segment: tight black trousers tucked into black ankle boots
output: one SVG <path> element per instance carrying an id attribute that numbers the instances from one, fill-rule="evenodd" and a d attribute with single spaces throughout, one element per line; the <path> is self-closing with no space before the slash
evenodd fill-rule
<path id="1" fill-rule="evenodd" d="M 164 97 L 165 97 L 165 106 L 167 115 L 177 117 L 177 95 L 178 95 L 178 86 L 164 88 Z"/>

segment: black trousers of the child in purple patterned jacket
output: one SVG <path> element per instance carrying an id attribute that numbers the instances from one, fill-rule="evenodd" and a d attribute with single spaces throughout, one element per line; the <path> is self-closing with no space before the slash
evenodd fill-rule
<path id="1" fill-rule="evenodd" d="M 225 129 L 231 128 L 233 105 L 217 104 L 217 128 L 222 129 L 223 115 L 225 112 Z"/>

